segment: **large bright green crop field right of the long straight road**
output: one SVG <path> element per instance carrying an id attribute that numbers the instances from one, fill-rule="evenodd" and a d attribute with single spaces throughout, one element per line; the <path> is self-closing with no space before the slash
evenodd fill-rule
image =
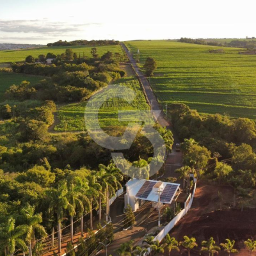
<path id="1" fill-rule="evenodd" d="M 256 120 L 256 55 L 241 49 L 184 44 L 167 40 L 129 41 L 140 67 L 150 56 L 157 62 L 150 84 L 159 102 L 184 102 L 200 113 L 220 113 Z M 225 53 L 210 53 L 224 49 Z"/>

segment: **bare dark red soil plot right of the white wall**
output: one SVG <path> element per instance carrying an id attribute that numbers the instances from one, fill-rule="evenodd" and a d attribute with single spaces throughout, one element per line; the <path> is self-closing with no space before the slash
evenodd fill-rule
<path id="1" fill-rule="evenodd" d="M 222 211 L 218 191 L 223 195 Z M 191 256 L 199 255 L 203 240 L 214 237 L 217 244 L 225 243 L 225 239 L 234 239 L 239 253 L 234 255 L 250 255 L 244 248 L 243 241 L 256 237 L 256 209 L 235 209 L 232 207 L 234 191 L 229 186 L 205 184 L 198 182 L 193 205 L 188 214 L 170 232 L 170 236 L 178 241 L 183 236 L 195 237 L 198 247 Z M 172 255 L 179 255 L 172 252 Z M 182 253 L 187 255 L 187 252 Z M 227 255 L 220 252 L 219 255 Z"/>

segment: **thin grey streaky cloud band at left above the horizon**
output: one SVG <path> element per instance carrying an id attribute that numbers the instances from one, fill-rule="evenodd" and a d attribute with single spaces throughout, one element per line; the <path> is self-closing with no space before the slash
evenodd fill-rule
<path id="1" fill-rule="evenodd" d="M 0 20 L 0 31 L 5 33 L 39 33 L 56 36 L 83 31 L 86 26 L 97 25 L 100 24 L 68 24 L 67 22 L 49 22 L 47 20 Z"/>

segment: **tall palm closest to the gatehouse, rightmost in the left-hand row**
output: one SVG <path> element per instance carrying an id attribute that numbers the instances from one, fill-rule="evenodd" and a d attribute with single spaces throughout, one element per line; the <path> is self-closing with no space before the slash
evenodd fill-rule
<path id="1" fill-rule="evenodd" d="M 121 180 L 124 179 L 122 173 L 118 168 L 116 168 L 114 163 L 110 163 L 108 166 L 104 164 L 99 164 L 99 180 L 102 189 L 106 193 L 106 214 L 107 220 L 109 218 L 109 197 L 115 195 L 116 190 L 122 188 Z M 101 196 L 100 196 L 100 216 L 101 216 Z"/>

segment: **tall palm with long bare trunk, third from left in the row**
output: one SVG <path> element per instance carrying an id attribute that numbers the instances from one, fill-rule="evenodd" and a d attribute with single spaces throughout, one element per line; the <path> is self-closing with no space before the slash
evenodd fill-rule
<path id="1" fill-rule="evenodd" d="M 58 253 L 61 252 L 61 222 L 64 218 L 64 210 L 73 211 L 73 206 L 68 202 L 67 182 L 61 182 L 58 188 L 51 188 L 45 191 L 49 200 L 49 212 L 56 214 L 58 221 Z"/>

